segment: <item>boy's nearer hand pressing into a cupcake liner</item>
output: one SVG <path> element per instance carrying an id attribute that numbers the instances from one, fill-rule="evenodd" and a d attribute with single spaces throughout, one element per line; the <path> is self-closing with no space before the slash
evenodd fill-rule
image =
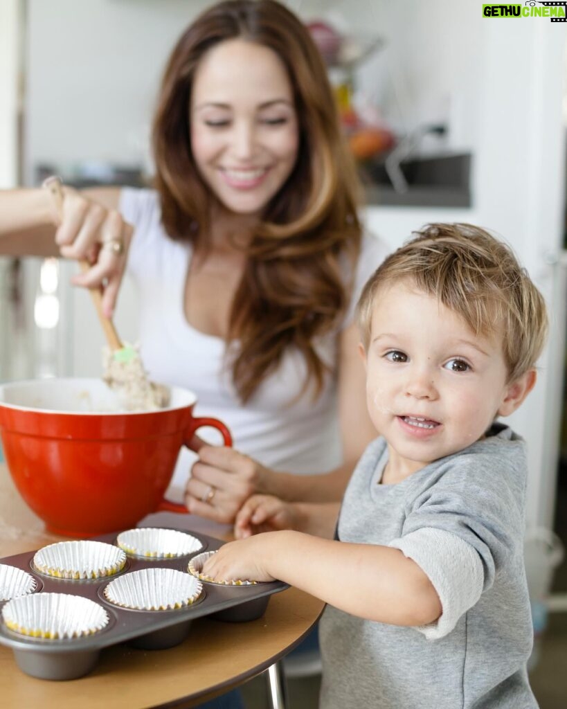
<path id="1" fill-rule="evenodd" d="M 266 569 L 274 554 L 273 535 L 265 534 L 229 542 L 203 564 L 202 573 L 218 581 L 275 581 Z"/>

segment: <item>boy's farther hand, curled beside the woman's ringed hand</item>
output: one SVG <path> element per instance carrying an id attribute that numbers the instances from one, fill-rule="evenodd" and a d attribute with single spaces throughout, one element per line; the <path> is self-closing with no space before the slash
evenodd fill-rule
<path id="1" fill-rule="evenodd" d="M 293 503 L 273 495 L 252 495 L 236 515 L 235 537 L 246 539 L 259 532 L 298 530 L 300 515 Z"/>

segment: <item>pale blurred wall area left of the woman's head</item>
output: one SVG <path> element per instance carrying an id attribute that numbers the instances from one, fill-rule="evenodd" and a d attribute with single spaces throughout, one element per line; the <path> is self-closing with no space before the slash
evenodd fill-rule
<path id="1" fill-rule="evenodd" d="M 139 164 L 167 52 L 206 3 L 29 0 L 28 182 L 33 164 Z"/>

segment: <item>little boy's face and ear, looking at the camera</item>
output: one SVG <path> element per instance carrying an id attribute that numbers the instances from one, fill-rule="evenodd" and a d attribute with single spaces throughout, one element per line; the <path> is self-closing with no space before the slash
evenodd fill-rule
<path id="1" fill-rule="evenodd" d="M 507 384 L 502 337 L 474 335 L 437 298 L 410 284 L 376 295 L 366 359 L 366 403 L 400 476 L 463 450 L 496 415 L 520 406 L 534 372 Z"/>

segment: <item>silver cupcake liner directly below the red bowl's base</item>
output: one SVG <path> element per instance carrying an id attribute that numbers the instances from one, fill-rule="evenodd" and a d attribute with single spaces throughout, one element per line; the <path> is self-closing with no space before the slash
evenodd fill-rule
<path id="1" fill-rule="evenodd" d="M 123 569 L 126 554 L 104 542 L 57 542 L 35 552 L 33 566 L 57 579 L 100 579 Z"/>

